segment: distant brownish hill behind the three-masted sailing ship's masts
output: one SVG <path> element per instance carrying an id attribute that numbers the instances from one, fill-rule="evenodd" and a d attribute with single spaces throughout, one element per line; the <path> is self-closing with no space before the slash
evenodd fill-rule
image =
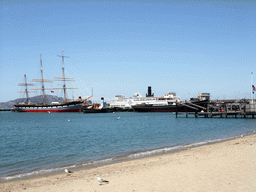
<path id="1" fill-rule="evenodd" d="M 3 108 L 3 109 L 13 108 L 14 104 L 22 103 L 25 100 L 26 100 L 25 98 L 19 98 L 19 99 L 7 101 L 7 102 L 2 102 L 2 103 L 0 103 L 0 108 Z M 43 102 L 43 96 L 40 95 L 40 96 L 30 97 L 29 101 L 31 103 L 42 103 Z M 56 96 L 52 96 L 52 95 L 45 95 L 45 102 L 47 104 L 50 104 L 51 102 L 62 102 L 62 101 L 63 101 L 62 97 L 56 97 Z"/>

